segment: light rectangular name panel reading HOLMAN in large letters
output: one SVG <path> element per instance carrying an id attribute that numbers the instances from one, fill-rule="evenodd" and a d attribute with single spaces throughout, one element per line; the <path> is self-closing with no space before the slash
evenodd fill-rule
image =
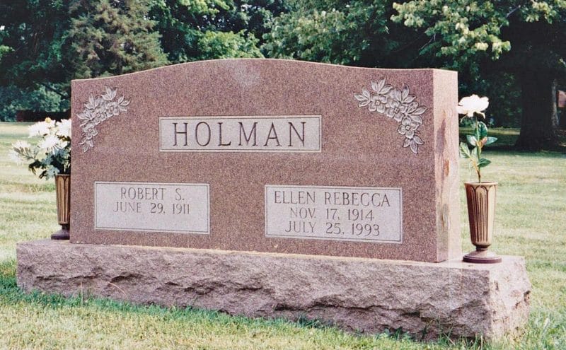
<path id="1" fill-rule="evenodd" d="M 160 117 L 162 152 L 320 152 L 320 115 Z"/>

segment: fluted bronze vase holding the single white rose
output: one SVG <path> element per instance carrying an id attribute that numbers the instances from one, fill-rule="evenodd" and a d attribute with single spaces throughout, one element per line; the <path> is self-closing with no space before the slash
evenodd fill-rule
<path id="1" fill-rule="evenodd" d="M 465 255 L 463 261 L 480 264 L 501 262 L 501 257 L 487 250 L 493 238 L 497 182 L 465 182 L 464 185 L 468 199 L 470 238 L 475 251 Z"/>

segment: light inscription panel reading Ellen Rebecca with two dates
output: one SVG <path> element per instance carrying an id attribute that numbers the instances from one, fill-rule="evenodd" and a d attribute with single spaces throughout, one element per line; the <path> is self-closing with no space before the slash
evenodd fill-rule
<path id="1" fill-rule="evenodd" d="M 403 243 L 400 188 L 265 185 L 267 237 Z"/>

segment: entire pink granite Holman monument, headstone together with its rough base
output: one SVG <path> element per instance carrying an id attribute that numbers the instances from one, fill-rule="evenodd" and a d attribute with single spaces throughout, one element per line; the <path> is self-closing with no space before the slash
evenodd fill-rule
<path id="1" fill-rule="evenodd" d="M 275 59 L 73 81 L 71 240 L 18 286 L 417 339 L 521 332 L 522 257 L 461 261 L 456 73 Z"/>

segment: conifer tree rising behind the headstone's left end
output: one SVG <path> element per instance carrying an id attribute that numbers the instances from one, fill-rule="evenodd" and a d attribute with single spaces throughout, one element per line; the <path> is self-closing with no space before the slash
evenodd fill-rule
<path id="1" fill-rule="evenodd" d="M 64 35 L 67 78 L 125 74 L 168 64 L 148 18 L 149 0 L 71 1 Z"/>

